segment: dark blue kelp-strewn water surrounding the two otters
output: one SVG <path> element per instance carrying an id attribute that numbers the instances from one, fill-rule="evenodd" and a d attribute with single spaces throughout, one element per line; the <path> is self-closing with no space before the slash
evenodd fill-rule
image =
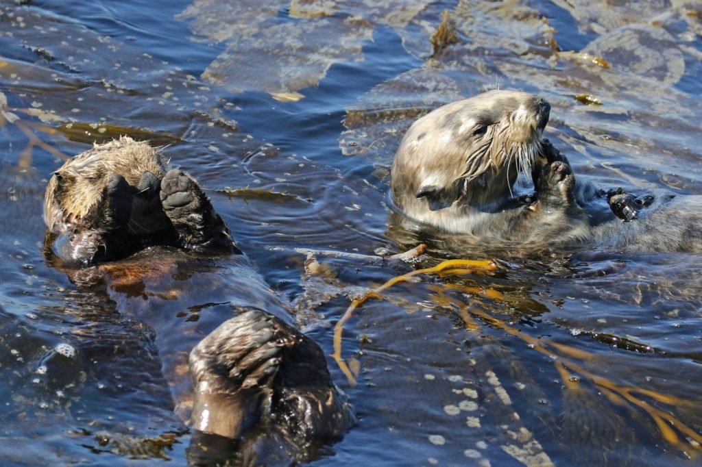
<path id="1" fill-rule="evenodd" d="M 310 277 L 296 248 L 412 246 L 388 229 L 389 167 L 439 104 L 539 93 L 578 177 L 702 194 L 698 6 L 385 3 L 2 3 L 0 463 L 187 463 L 193 432 L 173 413 L 164 349 L 134 319 L 153 299 L 77 285 L 41 251 L 46 181 L 94 141 L 167 145 L 327 354 L 350 299 L 415 266 L 319 255 L 334 279 Z M 444 10 L 458 42 L 434 50 Z M 417 267 L 444 257 L 482 253 L 435 243 Z M 358 384 L 328 362 L 359 423 L 305 460 L 697 465 L 701 258 L 590 245 L 495 259 L 494 272 L 417 276 L 355 313 L 342 356 Z M 173 292 L 166 266 L 147 290 Z M 208 300 L 176 279 L 164 313 Z"/>

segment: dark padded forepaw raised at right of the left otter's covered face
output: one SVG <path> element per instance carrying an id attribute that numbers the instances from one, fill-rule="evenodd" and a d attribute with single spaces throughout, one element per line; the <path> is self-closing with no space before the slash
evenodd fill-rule
<path id="1" fill-rule="evenodd" d="M 180 169 L 161 180 L 161 205 L 184 248 L 195 251 L 235 251 L 227 225 L 215 212 L 197 182 Z"/>

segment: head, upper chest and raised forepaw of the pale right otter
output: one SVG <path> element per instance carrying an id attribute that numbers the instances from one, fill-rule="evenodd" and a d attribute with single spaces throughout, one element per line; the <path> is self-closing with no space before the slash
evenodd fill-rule
<path id="1" fill-rule="evenodd" d="M 542 147 L 542 134 L 549 112 L 540 97 L 493 90 L 418 119 L 392 162 L 395 205 L 439 231 L 498 241 L 585 235 L 587 219 L 567 199 L 557 201 L 574 188 L 569 168 L 545 164 L 550 145 Z M 532 173 L 543 191 L 536 203 L 514 196 L 520 172 Z"/>

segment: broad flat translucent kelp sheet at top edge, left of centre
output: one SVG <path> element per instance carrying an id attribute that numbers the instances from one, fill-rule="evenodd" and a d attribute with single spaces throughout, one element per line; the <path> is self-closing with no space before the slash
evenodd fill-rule
<path id="1" fill-rule="evenodd" d="M 226 50 L 203 73 L 205 81 L 240 93 L 263 90 L 277 100 L 299 100 L 334 64 L 364 60 L 362 48 L 380 26 L 400 34 L 418 24 L 428 1 L 277 1 L 229 5 L 197 0 L 179 18 L 195 34 Z M 287 15 L 286 20 L 279 20 Z"/>

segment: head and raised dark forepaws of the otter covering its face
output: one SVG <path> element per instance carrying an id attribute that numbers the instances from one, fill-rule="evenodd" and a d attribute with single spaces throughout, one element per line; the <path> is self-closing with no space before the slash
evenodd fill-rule
<path id="1" fill-rule="evenodd" d="M 124 258 L 147 245 L 237 250 L 190 175 L 164 169 L 159 152 L 129 137 L 69 159 L 48 182 L 44 222 L 65 262 Z"/>

